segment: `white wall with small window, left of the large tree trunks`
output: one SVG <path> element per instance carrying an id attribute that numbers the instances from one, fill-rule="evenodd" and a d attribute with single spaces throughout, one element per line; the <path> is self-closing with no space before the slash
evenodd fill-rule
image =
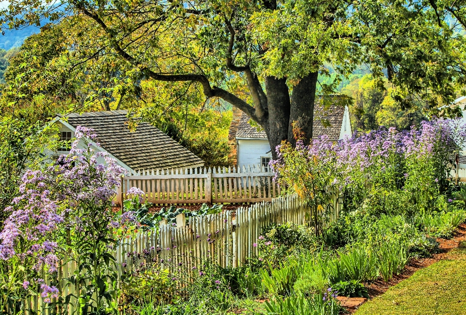
<path id="1" fill-rule="evenodd" d="M 261 157 L 272 157 L 267 139 L 237 139 L 237 141 L 238 166 L 260 164 Z"/>

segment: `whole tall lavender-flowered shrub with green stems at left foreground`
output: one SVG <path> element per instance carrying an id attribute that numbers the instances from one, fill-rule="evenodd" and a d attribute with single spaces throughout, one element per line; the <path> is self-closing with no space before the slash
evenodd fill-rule
<path id="1" fill-rule="evenodd" d="M 69 297 L 59 297 L 55 286 L 35 276 L 42 266 L 56 276 L 59 262 L 72 261 L 81 271 L 68 279 L 79 286 L 78 313 L 116 310 L 114 251 L 119 240 L 112 231 L 134 219 L 132 212 L 120 216 L 112 211 L 125 171 L 97 150 L 92 129 L 78 126 L 75 136 L 69 154 L 57 164 L 27 171 L 22 178 L 22 195 L 15 198 L 0 234 L 3 309 L 14 297 L 33 294 L 35 284 L 51 307 L 66 307 Z"/>

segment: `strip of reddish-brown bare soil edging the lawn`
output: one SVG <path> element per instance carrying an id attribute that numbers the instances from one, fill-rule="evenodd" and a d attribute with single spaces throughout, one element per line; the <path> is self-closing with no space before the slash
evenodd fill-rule
<path id="1" fill-rule="evenodd" d="M 411 277 L 413 273 L 415 273 L 417 270 L 430 266 L 439 260 L 445 259 L 447 253 L 450 250 L 458 248 L 458 245 L 465 240 L 466 224 L 462 223 L 458 226 L 457 230 L 453 235 L 453 238 L 437 238 L 437 242 L 440 243 L 439 248 L 442 252 L 438 254 L 433 254 L 432 257 L 429 258 L 411 259 L 408 265 L 406 265 L 406 267 L 404 268 L 403 272 L 397 276 L 394 276 L 389 282 L 384 282 L 383 279 L 378 279 L 370 283 L 365 283 L 364 285 L 367 287 L 370 299 L 373 299 L 385 293 L 391 286 L 398 284 L 401 281 Z M 361 298 L 342 299 L 342 306 L 345 307 L 349 313 L 354 313 L 356 309 L 363 303 L 360 299 Z M 357 306 L 355 306 L 355 304 L 357 304 Z"/>

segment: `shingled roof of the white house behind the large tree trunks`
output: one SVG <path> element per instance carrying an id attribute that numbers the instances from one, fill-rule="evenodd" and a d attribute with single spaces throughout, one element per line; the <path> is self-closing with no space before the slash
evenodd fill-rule
<path id="1" fill-rule="evenodd" d="M 331 104 L 328 108 L 324 109 L 319 104 L 314 107 L 314 120 L 313 120 L 313 138 L 327 135 L 329 140 L 336 141 L 340 138 L 341 125 L 343 124 L 343 117 L 345 115 L 345 107 Z M 267 138 L 265 131 L 257 131 L 249 123 L 249 116 L 244 112 L 241 115 L 241 120 L 236 131 L 236 138 Z M 330 126 L 327 126 L 330 124 Z"/>

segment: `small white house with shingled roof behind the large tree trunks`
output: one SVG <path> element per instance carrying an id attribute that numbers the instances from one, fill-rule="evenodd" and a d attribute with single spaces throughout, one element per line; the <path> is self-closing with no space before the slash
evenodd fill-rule
<path id="1" fill-rule="evenodd" d="M 316 104 L 314 110 L 313 138 L 329 136 L 331 141 L 338 141 L 351 136 L 350 110 L 332 104 L 325 110 Z M 233 121 L 230 126 L 230 142 L 236 149 L 236 164 L 268 166 L 272 157 L 272 149 L 266 133 L 251 126 L 250 118 L 240 110 L 233 108 Z"/>

